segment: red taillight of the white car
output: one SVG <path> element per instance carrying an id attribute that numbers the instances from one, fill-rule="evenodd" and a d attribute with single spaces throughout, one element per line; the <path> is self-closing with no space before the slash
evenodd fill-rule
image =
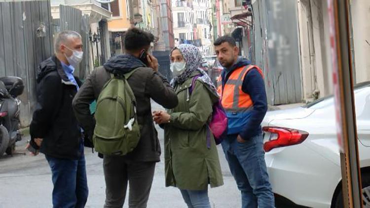
<path id="1" fill-rule="evenodd" d="M 277 147 L 300 144 L 308 137 L 305 131 L 283 127 L 263 127 L 262 130 L 271 134 L 270 139 L 263 144 L 265 152 Z"/>

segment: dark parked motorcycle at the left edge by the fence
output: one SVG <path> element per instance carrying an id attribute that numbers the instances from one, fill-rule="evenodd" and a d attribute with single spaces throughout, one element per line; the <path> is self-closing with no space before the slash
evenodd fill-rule
<path id="1" fill-rule="evenodd" d="M 22 140 L 20 132 L 20 104 L 18 96 L 24 84 L 20 77 L 0 77 L 0 157 L 15 151 L 15 142 Z"/>

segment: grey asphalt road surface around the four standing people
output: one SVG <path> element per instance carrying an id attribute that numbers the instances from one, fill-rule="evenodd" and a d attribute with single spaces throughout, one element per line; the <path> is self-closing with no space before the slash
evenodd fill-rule
<path id="1" fill-rule="evenodd" d="M 161 109 L 153 104 L 153 110 Z M 156 127 L 163 147 L 163 130 Z M 50 168 L 43 154 L 30 156 L 24 149 L 27 137 L 17 142 L 16 155 L 0 158 L 0 208 L 51 208 L 52 182 Z M 219 145 L 219 157 L 224 185 L 209 189 L 213 208 L 241 207 L 240 192 L 229 171 L 227 162 Z M 86 171 L 89 198 L 86 208 L 102 208 L 105 200 L 103 160 L 91 148 L 85 148 Z M 196 175 L 194 175 L 196 177 Z M 128 196 L 128 195 L 127 195 Z M 127 201 L 127 198 L 126 198 Z M 124 208 L 127 208 L 125 204 Z M 157 163 L 148 208 L 186 208 L 180 191 L 165 187 L 164 159 Z"/>

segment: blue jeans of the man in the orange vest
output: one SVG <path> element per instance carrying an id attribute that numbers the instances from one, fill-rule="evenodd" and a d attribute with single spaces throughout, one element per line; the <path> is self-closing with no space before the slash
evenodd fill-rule
<path id="1" fill-rule="evenodd" d="M 228 135 L 222 148 L 242 194 L 242 208 L 274 208 L 274 195 L 264 160 L 262 134 L 240 143 Z"/>

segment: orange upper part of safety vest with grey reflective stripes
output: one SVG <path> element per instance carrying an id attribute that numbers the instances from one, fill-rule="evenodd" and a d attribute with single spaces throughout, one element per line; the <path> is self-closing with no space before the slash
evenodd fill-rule
<path id="1" fill-rule="evenodd" d="M 217 90 L 221 95 L 221 103 L 226 111 L 241 112 L 253 106 L 251 97 L 242 91 L 244 77 L 251 69 L 258 69 L 263 78 L 262 70 L 254 65 L 248 65 L 231 72 L 222 91 L 222 77 L 217 80 Z"/>

